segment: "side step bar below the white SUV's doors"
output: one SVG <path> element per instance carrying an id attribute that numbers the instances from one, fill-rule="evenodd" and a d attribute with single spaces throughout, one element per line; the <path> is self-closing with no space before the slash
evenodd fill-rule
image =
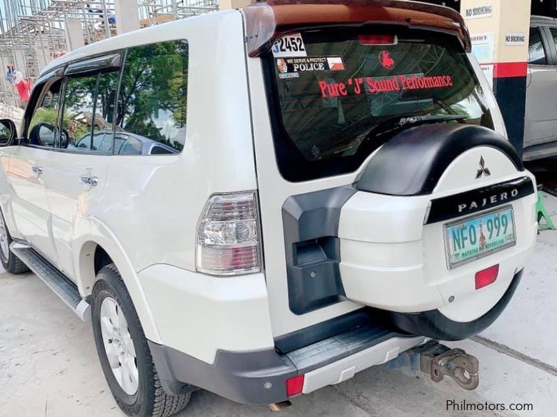
<path id="1" fill-rule="evenodd" d="M 91 306 L 81 298 L 77 286 L 32 247 L 13 242 L 10 250 L 22 260 L 81 320 L 91 320 Z"/>

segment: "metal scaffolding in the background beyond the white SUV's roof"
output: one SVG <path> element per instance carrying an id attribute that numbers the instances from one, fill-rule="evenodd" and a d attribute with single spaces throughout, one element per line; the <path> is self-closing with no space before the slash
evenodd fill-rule
<path id="1" fill-rule="evenodd" d="M 219 0 L 136 0 L 141 28 L 184 19 L 219 8 Z M 79 47 L 117 33 L 115 0 L 0 0 L 0 65 L 36 78 L 47 63 Z M 72 24 L 83 32 L 76 42 Z M 72 44 L 76 43 L 76 44 Z M 17 106 L 15 88 L 5 76 L 0 102 Z"/>

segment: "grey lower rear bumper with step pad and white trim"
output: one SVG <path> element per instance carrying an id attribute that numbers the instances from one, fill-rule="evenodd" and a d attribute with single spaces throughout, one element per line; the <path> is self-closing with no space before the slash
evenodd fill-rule
<path id="1" fill-rule="evenodd" d="M 149 342 L 149 347 L 167 393 L 199 387 L 235 402 L 272 404 L 288 400 L 286 380 L 290 377 L 304 374 L 302 393 L 311 393 L 390 361 L 425 341 L 423 336 L 405 336 L 368 325 L 288 354 L 276 350 L 219 351 L 212 364 L 157 343 Z"/>

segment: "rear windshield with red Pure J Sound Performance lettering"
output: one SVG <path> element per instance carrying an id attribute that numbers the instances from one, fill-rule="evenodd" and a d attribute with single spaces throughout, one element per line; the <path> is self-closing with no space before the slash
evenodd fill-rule
<path id="1" fill-rule="evenodd" d="M 456 37 L 429 31 L 301 31 L 263 58 L 278 167 L 288 181 L 356 170 L 388 140 L 383 125 L 462 115 L 493 129 Z M 455 123 L 456 121 L 453 121 Z"/>

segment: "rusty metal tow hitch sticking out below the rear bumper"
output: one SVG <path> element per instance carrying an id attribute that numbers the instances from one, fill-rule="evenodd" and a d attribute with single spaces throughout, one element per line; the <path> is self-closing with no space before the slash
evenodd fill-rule
<path id="1" fill-rule="evenodd" d="M 436 341 L 430 341 L 415 348 L 420 354 L 420 369 L 431 376 L 434 382 L 441 381 L 445 375 L 455 380 L 464 389 L 478 387 L 478 359 L 462 349 L 450 349 Z"/>

